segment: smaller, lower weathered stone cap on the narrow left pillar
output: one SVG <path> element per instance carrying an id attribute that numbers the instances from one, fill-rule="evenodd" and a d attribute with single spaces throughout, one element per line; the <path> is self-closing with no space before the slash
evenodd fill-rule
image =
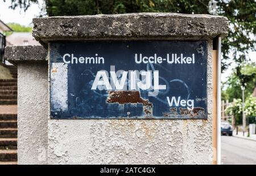
<path id="1" fill-rule="evenodd" d="M 6 46 L 5 59 L 14 65 L 23 62 L 47 63 L 47 50 L 43 46 Z"/>

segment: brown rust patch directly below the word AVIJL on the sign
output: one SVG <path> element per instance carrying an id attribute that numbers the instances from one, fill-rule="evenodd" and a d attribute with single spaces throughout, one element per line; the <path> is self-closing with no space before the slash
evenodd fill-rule
<path id="1" fill-rule="evenodd" d="M 118 104 L 143 104 L 146 115 L 152 114 L 153 105 L 148 100 L 141 97 L 139 91 L 108 91 L 109 97 L 106 102 Z"/>

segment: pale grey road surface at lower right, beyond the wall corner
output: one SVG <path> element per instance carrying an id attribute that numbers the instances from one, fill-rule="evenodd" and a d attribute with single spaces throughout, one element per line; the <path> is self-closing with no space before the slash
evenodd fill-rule
<path id="1" fill-rule="evenodd" d="M 221 136 L 221 164 L 256 165 L 256 141 Z"/>

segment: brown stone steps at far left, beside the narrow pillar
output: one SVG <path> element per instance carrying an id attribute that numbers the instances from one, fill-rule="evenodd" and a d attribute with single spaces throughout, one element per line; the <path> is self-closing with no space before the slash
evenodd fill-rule
<path id="1" fill-rule="evenodd" d="M 0 79 L 0 106 L 17 104 L 17 68 L 9 68 L 14 79 Z M 17 114 L 0 111 L 0 165 L 17 164 Z"/>

